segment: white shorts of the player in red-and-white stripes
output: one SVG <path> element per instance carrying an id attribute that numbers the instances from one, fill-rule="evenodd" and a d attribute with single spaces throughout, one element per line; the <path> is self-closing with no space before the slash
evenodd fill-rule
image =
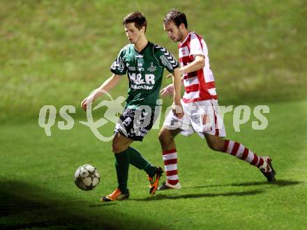
<path id="1" fill-rule="evenodd" d="M 218 115 L 218 100 L 202 100 L 185 103 L 181 100 L 184 117 L 179 119 L 170 110 L 163 126 L 168 130 L 181 129 L 181 135 L 190 136 L 197 132 L 204 138 L 205 133 L 226 137 L 223 118 Z"/>

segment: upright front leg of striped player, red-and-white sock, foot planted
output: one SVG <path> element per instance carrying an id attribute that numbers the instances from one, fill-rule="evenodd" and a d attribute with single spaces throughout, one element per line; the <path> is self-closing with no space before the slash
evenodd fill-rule
<path id="1" fill-rule="evenodd" d="M 179 189 L 181 185 L 178 177 L 177 167 L 177 149 L 174 142 L 174 137 L 181 132 L 181 129 L 168 129 L 166 126 L 161 128 L 159 133 L 159 141 L 162 147 L 163 163 L 167 181 L 165 181 L 158 190 Z"/>

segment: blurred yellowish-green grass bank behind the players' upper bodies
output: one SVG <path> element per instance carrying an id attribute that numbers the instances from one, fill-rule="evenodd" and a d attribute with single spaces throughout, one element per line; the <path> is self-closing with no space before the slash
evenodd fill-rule
<path id="1" fill-rule="evenodd" d="M 206 40 L 220 101 L 306 98 L 304 0 L 3 0 L 0 121 L 35 118 L 43 105 L 79 105 L 110 77 L 110 65 L 128 41 L 121 20 L 133 10 L 147 16 L 147 38 L 177 56 L 162 25 L 173 7 L 184 10 L 188 28 Z M 123 81 L 113 93 L 126 89 Z"/>

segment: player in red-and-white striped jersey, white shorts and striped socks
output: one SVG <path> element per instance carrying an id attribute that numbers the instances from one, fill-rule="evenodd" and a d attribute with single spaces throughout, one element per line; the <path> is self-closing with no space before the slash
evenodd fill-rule
<path id="1" fill-rule="evenodd" d="M 260 157 L 237 141 L 223 139 L 226 136 L 223 118 L 218 115 L 218 95 L 214 75 L 209 64 L 208 48 L 204 39 L 193 31 L 188 31 L 186 15 L 178 10 L 170 10 L 164 18 L 167 36 L 179 42 L 179 71 L 183 75 L 185 93 L 181 104 L 184 117 L 168 114 L 159 139 L 163 149 L 163 162 L 167 181 L 158 190 L 179 189 L 177 150 L 174 137 L 177 134 L 192 135 L 196 132 L 207 140 L 214 151 L 234 155 L 258 167 L 267 180 L 275 181 L 275 171 L 271 158 Z M 172 84 L 161 91 L 161 95 L 172 93 Z"/>

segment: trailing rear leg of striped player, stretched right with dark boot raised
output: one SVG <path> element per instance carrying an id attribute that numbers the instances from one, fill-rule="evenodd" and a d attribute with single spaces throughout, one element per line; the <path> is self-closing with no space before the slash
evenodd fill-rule
<path id="1" fill-rule="evenodd" d="M 209 133 L 205 133 L 204 137 L 206 137 L 207 144 L 212 150 L 236 156 L 240 160 L 244 160 L 259 168 L 269 182 L 275 181 L 276 173 L 272 167 L 272 160 L 270 157 L 260 157 L 237 141 L 231 141 L 227 139 L 224 140 L 221 137 L 211 135 Z"/>

